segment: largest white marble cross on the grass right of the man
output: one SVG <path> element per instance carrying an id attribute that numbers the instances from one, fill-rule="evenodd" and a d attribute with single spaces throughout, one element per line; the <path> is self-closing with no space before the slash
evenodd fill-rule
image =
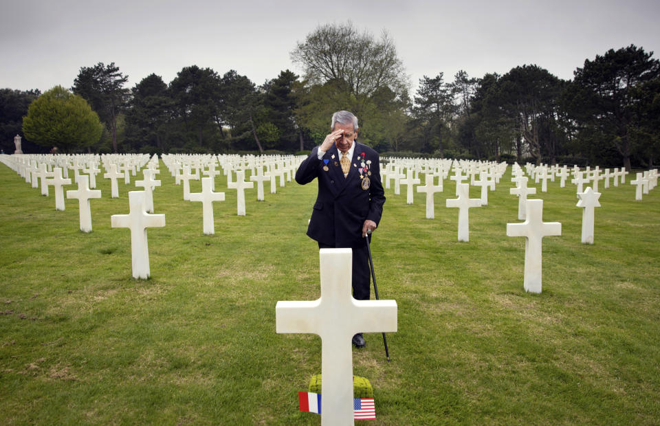
<path id="1" fill-rule="evenodd" d="M 527 219 L 523 223 L 507 223 L 507 236 L 525 237 L 525 278 L 523 287 L 531 293 L 541 292 L 542 239 L 561 235 L 562 224 L 543 221 L 543 200 L 527 200 Z"/>

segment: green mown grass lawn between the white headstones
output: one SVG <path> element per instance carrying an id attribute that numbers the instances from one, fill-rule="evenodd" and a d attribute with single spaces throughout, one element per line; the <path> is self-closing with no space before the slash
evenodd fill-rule
<path id="1" fill-rule="evenodd" d="M 320 338 L 275 333 L 278 300 L 320 295 L 318 249 L 305 231 L 316 183 L 295 181 L 265 201 L 218 179 L 215 235 L 201 203 L 184 201 L 162 165 L 148 230 L 151 279 L 131 278 L 128 190 L 91 200 L 94 231 L 78 229 L 78 201 L 55 210 L 0 166 L 0 424 L 318 425 L 297 392 L 320 373 Z M 399 306 L 399 331 L 353 351 L 374 388 L 372 424 L 657 424 L 660 419 L 660 191 L 635 200 L 628 182 L 603 189 L 595 244 L 580 243 L 575 186 L 549 183 L 543 291 L 522 288 L 524 238 L 506 236 L 518 201 L 510 170 L 489 205 L 470 209 L 457 240 L 454 183 L 415 204 L 386 190 L 372 251 L 380 296 Z M 540 184 L 535 186 L 540 192 Z M 75 189 L 69 186 L 67 189 Z M 201 183 L 192 182 L 199 192 Z M 478 197 L 479 188 L 470 190 Z M 373 291 L 372 291 L 373 294 Z M 372 295 L 373 298 L 373 295 Z"/>

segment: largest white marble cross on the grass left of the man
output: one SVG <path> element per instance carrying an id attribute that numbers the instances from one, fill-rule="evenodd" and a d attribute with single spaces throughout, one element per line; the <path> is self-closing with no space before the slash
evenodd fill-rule
<path id="1" fill-rule="evenodd" d="M 110 216 L 111 227 L 131 229 L 131 265 L 133 278 L 146 280 L 149 270 L 149 249 L 146 241 L 147 227 L 164 227 L 164 214 L 148 214 L 144 205 L 144 191 L 129 191 L 129 214 Z"/>

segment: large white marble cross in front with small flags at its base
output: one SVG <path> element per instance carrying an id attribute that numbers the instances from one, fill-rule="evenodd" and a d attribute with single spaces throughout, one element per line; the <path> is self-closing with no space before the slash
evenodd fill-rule
<path id="1" fill-rule="evenodd" d="M 351 339 L 356 333 L 397 331 L 397 302 L 353 299 L 351 249 L 320 249 L 319 256 L 321 297 L 309 302 L 277 302 L 276 332 L 321 337 L 321 425 L 353 425 Z"/>

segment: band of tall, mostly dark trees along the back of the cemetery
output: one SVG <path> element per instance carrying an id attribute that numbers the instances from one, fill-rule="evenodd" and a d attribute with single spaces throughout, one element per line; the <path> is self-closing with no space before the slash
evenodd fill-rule
<path id="1" fill-rule="evenodd" d="M 2 89 L 1 146 L 12 153 L 21 134 L 26 148 L 65 152 L 296 153 L 319 144 L 331 113 L 346 109 L 360 118 L 360 141 L 384 154 L 652 167 L 660 155 L 652 56 L 635 45 L 610 49 L 586 59 L 573 80 L 537 65 L 481 78 L 459 71 L 450 81 L 439 73 L 410 93 L 387 32 L 327 24 L 291 52 L 303 75 L 286 69 L 262 85 L 191 65 L 171 82 L 151 74 L 129 89 L 114 63 L 81 67 L 70 92 L 98 115 L 94 140 L 23 134 L 28 106 L 45 93 Z"/>

